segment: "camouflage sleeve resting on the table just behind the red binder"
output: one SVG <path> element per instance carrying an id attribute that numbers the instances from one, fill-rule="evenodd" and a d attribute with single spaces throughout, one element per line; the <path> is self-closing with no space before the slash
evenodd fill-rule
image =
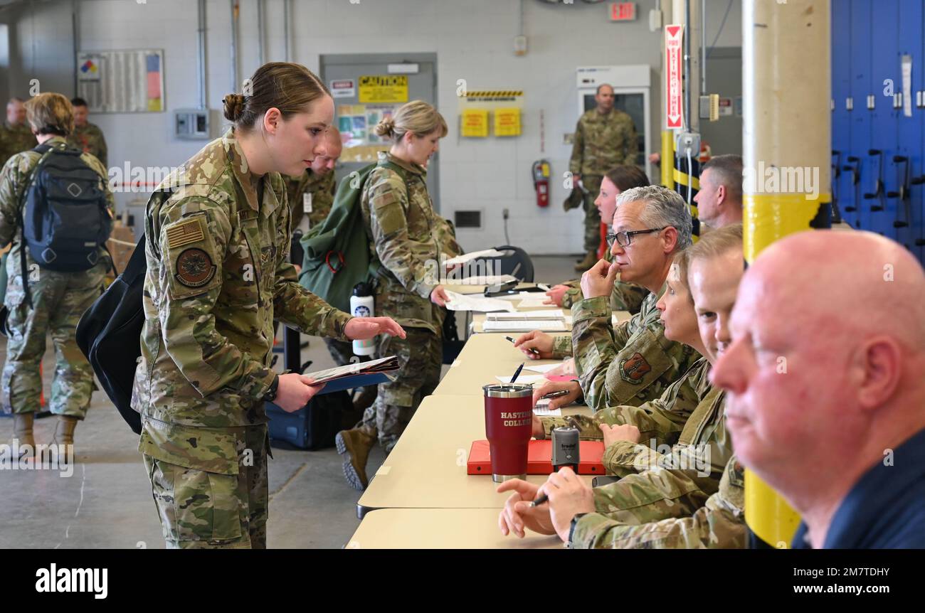
<path id="1" fill-rule="evenodd" d="M 683 377 L 672 383 L 660 398 L 650 400 L 638 407 L 605 407 L 594 415 L 571 415 L 569 417 L 543 417 L 543 431 L 551 437 L 553 428 L 574 426 L 581 438 L 600 440 L 603 435 L 600 425 L 635 425 L 639 429 L 640 441 L 654 447 L 673 445 L 685 427 L 697 405 L 706 398 L 712 386 L 709 383 L 709 362 L 700 358 Z"/>

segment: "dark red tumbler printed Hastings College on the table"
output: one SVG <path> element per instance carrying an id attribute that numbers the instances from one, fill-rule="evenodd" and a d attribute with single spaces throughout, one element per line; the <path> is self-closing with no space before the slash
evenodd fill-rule
<path id="1" fill-rule="evenodd" d="M 485 437 L 495 483 L 526 478 L 527 446 L 533 437 L 533 386 L 484 386 Z"/>

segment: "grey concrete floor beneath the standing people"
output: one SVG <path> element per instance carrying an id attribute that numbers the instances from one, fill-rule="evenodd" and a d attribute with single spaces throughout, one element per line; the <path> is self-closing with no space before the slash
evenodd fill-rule
<path id="1" fill-rule="evenodd" d="M 536 280 L 555 283 L 573 278 L 574 262 L 571 256 L 536 257 Z M 318 369 L 333 366 L 322 340 L 309 340 L 302 360 L 314 360 L 313 368 Z M 0 349 L 2 362 L 6 338 L 0 337 Z M 44 361 L 46 394 L 53 370 L 54 356 L 49 351 Z M 54 417 L 36 421 L 36 443 L 51 438 L 55 421 Z M 0 442 L 6 443 L 11 435 L 12 420 L 0 419 Z M 138 436 L 105 393 L 93 394 L 75 443 L 78 461 L 69 476 L 56 471 L 0 470 L 4 517 L 0 548 L 163 548 L 151 485 L 137 451 Z M 344 480 L 337 451 L 274 449 L 273 455 L 268 546 L 343 546 L 359 525 L 356 502 L 362 493 Z M 367 472 L 375 474 L 384 459 L 382 449 L 376 447 Z"/>

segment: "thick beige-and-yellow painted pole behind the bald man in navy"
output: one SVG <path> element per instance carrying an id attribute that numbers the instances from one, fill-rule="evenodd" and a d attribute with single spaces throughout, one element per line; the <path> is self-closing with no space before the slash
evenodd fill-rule
<path id="1" fill-rule="evenodd" d="M 745 0 L 742 11 L 744 247 L 828 227 L 832 193 L 830 0 Z M 753 546 L 789 547 L 796 511 L 746 471 Z"/>

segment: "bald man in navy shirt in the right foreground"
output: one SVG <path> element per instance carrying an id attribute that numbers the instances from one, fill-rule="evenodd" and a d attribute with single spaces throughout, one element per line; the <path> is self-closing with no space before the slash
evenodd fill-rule
<path id="1" fill-rule="evenodd" d="M 713 369 L 742 462 L 795 548 L 925 547 L 925 272 L 868 232 L 802 232 L 749 267 Z"/>

